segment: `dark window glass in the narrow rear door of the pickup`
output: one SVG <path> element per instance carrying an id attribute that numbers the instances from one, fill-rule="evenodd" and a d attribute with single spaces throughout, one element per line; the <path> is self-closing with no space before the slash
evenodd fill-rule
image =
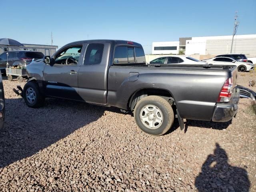
<path id="1" fill-rule="evenodd" d="M 103 50 L 104 50 L 104 44 L 100 44 L 100 43 L 89 44 L 86 49 L 84 64 L 85 65 L 100 64 L 102 60 Z"/>

